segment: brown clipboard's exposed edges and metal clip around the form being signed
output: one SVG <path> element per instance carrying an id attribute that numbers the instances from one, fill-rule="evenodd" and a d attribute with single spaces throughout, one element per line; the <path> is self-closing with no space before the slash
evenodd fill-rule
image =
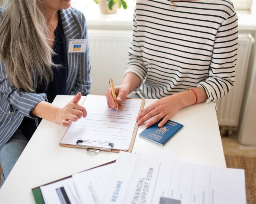
<path id="1" fill-rule="evenodd" d="M 139 109 L 138 114 L 140 113 L 141 109 L 144 107 L 145 105 L 145 99 L 142 98 L 127 98 L 127 99 L 134 99 L 134 100 L 141 100 L 141 106 Z M 84 102 L 86 101 L 86 99 L 84 100 Z M 83 102 L 83 103 L 84 103 Z M 68 131 L 68 129 L 66 130 L 66 132 Z M 137 131 L 138 131 L 138 124 L 136 122 L 134 130 L 133 130 L 133 134 L 131 137 L 131 142 L 129 145 L 129 148 L 127 150 L 123 150 L 122 151 L 126 151 L 126 152 L 131 152 L 134 142 L 135 142 L 135 138 L 137 135 Z M 65 132 L 65 134 L 66 134 Z M 63 135 L 62 139 L 65 137 L 65 134 Z M 72 148 L 84 148 L 86 149 L 86 151 L 92 151 L 92 152 L 96 152 L 99 153 L 99 151 L 108 151 L 108 152 L 119 152 L 120 149 L 115 149 L 115 145 L 112 142 L 96 142 L 90 139 L 78 139 L 76 141 L 76 144 L 64 144 L 62 143 L 62 139 L 59 142 L 59 145 L 62 147 L 72 147 Z"/>

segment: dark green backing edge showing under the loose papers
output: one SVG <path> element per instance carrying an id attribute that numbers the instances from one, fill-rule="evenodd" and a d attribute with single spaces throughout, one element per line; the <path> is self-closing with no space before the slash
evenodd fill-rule
<path id="1" fill-rule="evenodd" d="M 104 166 L 104 165 L 112 164 L 112 163 L 115 163 L 115 162 L 116 162 L 116 160 L 110 161 L 110 162 L 107 162 L 107 163 L 105 163 L 105 164 L 101 164 L 101 165 L 99 165 L 99 166 L 89 168 L 89 169 L 84 170 L 84 171 L 88 171 L 88 170 L 91 170 L 91 169 L 94 169 L 94 168 L 102 167 L 102 166 Z M 81 172 L 83 172 L 83 171 L 81 171 Z M 48 184 L 52 184 L 52 183 L 55 183 L 55 182 L 58 182 L 58 181 L 62 181 L 62 180 L 68 179 L 68 178 L 70 178 L 70 177 L 72 177 L 72 175 L 67 176 L 67 177 L 64 177 L 64 178 L 60 178 L 60 179 L 58 179 L 58 180 L 49 182 L 49 183 L 47 183 L 47 184 L 40 185 L 40 186 L 35 187 L 35 188 L 32 188 L 32 193 L 33 193 L 34 199 L 35 199 L 35 201 L 36 201 L 36 204 L 45 204 L 45 200 L 43 199 L 43 194 L 42 194 L 41 189 L 40 189 L 41 186 L 48 185 Z"/>

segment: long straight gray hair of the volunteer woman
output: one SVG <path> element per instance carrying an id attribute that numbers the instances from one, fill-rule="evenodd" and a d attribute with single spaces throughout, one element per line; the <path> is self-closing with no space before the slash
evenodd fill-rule
<path id="1" fill-rule="evenodd" d="M 34 92 L 33 71 L 39 82 L 53 78 L 53 50 L 47 43 L 42 0 L 9 0 L 0 23 L 0 60 L 17 89 Z M 35 69 L 35 70 L 33 70 Z"/>

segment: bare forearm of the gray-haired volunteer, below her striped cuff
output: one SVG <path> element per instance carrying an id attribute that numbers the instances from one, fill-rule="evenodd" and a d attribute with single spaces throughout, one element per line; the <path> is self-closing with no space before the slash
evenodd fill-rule
<path id="1" fill-rule="evenodd" d="M 37 103 L 35 108 L 31 111 L 31 114 L 51 122 L 56 122 L 56 115 L 59 110 L 60 108 L 52 105 L 52 103 L 41 101 Z"/>

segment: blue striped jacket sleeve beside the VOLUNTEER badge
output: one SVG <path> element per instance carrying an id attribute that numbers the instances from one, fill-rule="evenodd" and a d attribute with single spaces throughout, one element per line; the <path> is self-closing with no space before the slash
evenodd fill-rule
<path id="1" fill-rule="evenodd" d="M 81 13 L 81 12 L 79 12 Z M 78 92 L 81 92 L 82 95 L 86 96 L 91 90 L 92 80 L 91 80 L 91 59 L 89 55 L 89 40 L 87 33 L 87 24 L 85 16 L 81 13 L 81 20 L 79 22 L 82 28 L 81 39 L 86 39 L 86 51 L 80 55 L 80 63 L 78 76 L 76 78 L 75 84 L 72 87 L 70 95 L 76 95 Z"/>

